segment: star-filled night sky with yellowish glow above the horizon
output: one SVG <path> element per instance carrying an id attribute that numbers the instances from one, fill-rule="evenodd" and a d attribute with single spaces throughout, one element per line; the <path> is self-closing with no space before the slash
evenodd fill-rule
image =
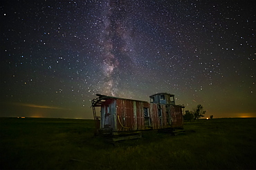
<path id="1" fill-rule="evenodd" d="M 256 1 L 1 0 L 0 116 L 93 118 L 158 92 L 256 117 Z"/>

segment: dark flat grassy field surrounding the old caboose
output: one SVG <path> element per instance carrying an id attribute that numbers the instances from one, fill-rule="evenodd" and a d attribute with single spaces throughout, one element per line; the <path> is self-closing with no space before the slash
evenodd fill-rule
<path id="1" fill-rule="evenodd" d="M 0 169 L 256 169 L 256 118 L 185 123 L 177 136 L 144 131 L 114 146 L 93 120 L 0 118 Z"/>

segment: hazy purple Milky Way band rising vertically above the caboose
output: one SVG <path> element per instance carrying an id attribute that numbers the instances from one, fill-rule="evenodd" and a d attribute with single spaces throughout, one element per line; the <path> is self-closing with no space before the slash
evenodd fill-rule
<path id="1" fill-rule="evenodd" d="M 104 83 L 100 86 L 102 92 L 107 95 L 116 96 L 124 93 L 120 89 L 121 75 L 132 74 L 131 65 L 133 57 L 133 40 L 129 24 L 127 3 L 123 1 L 107 1 L 103 5 L 102 12 L 102 52 Z"/>

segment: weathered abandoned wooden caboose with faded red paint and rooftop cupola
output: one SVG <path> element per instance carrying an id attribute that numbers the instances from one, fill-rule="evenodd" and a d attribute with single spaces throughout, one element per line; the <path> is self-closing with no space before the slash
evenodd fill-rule
<path id="1" fill-rule="evenodd" d="M 174 94 L 159 93 L 149 96 L 150 103 L 96 94 L 91 101 L 98 132 L 142 131 L 146 129 L 175 129 L 183 127 L 183 105 L 175 105 Z M 100 107 L 100 116 L 95 107 Z"/>

